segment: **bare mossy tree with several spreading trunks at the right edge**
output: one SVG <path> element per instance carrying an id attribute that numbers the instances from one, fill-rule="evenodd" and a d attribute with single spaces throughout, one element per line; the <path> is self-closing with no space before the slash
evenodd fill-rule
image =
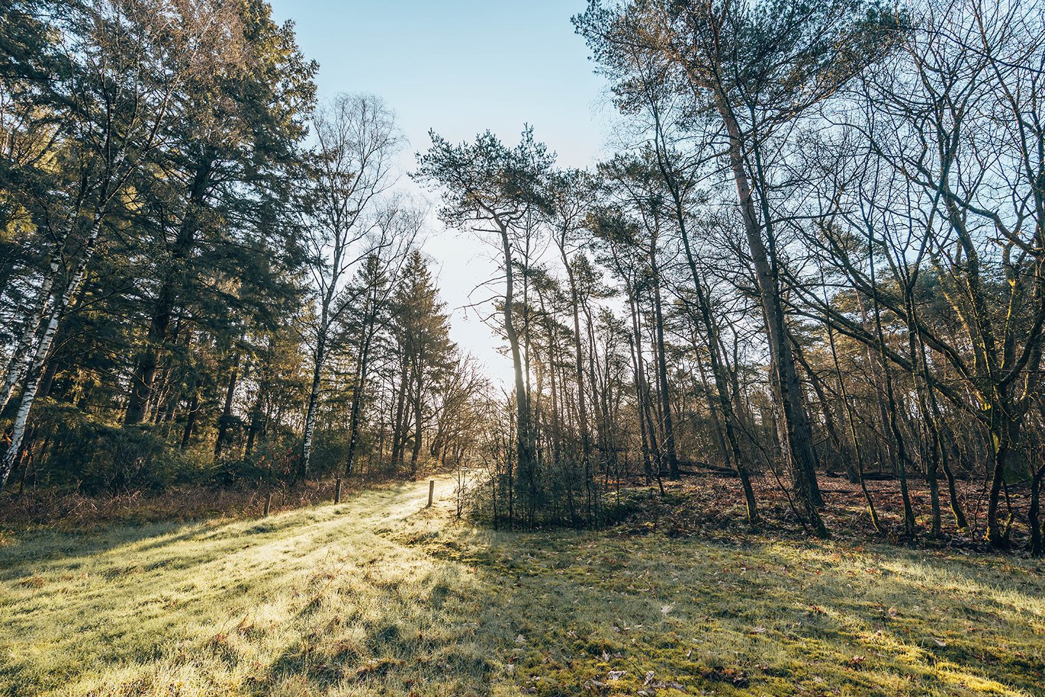
<path id="1" fill-rule="evenodd" d="M 1008 544 L 1004 479 L 1040 389 L 1045 325 L 1043 158 L 1030 146 L 1042 142 L 1043 43 L 1035 8 L 975 1 L 920 6 L 918 30 L 904 32 L 896 56 L 854 90 L 860 118 L 836 117 L 857 144 L 840 150 L 856 152 L 850 170 L 870 176 L 828 206 L 841 229 L 826 227 L 819 238 L 847 282 L 909 332 L 902 355 L 826 303 L 819 308 L 840 331 L 877 342 L 887 353 L 883 361 L 916 380 L 930 477 L 936 466 L 948 474 L 958 520 L 965 516 L 945 457 L 937 395 L 984 428 L 986 538 L 998 548 Z M 834 181 L 830 186 L 837 188 Z M 852 258 L 846 239 L 857 235 L 890 264 L 887 282 L 870 278 L 867 255 L 862 262 Z M 919 307 L 916 288 L 930 271 L 960 336 L 930 323 Z M 934 375 L 930 355 L 961 378 L 972 399 Z M 1037 520 L 1030 527 L 1037 529 Z"/>

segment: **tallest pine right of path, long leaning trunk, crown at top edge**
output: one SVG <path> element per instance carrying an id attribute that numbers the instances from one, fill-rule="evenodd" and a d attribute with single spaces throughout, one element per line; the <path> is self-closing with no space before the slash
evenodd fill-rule
<path id="1" fill-rule="evenodd" d="M 630 77 L 634 51 L 654 75 L 686 91 L 690 107 L 724 131 L 747 253 L 754 269 L 784 420 L 786 454 L 807 513 L 821 496 L 809 417 L 787 332 L 779 234 L 766 147 L 804 111 L 832 95 L 882 50 L 887 16 L 852 0 L 674 3 L 636 0 L 606 8 L 591 0 L 574 19 L 598 62 Z M 712 119 L 717 119 L 714 121 Z M 717 135 L 717 134 L 716 134 Z M 822 526 L 819 526 L 821 533 Z"/>

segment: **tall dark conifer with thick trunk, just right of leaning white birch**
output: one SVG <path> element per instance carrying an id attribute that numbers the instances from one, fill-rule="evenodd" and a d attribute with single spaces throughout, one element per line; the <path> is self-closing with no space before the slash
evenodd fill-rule
<path id="1" fill-rule="evenodd" d="M 300 176 L 299 141 L 305 134 L 303 114 L 314 100 L 316 65 L 303 59 L 291 27 L 274 24 L 258 2 L 237 9 L 241 64 L 192 79 L 177 95 L 165 146 L 148 179 L 136 183 L 153 218 L 148 250 L 156 281 L 144 302 L 148 330 L 133 372 L 127 424 L 145 418 L 175 313 L 202 302 L 206 279 L 238 265 L 240 273 L 233 274 L 255 286 L 245 296 L 281 295 L 286 291 L 274 287 L 278 276 L 293 279 L 293 265 L 300 261 L 291 260 L 287 273 L 287 264 L 266 269 L 237 256 L 257 253 L 280 260 L 279 250 L 295 250 L 286 204 Z M 247 234 L 237 238 L 239 231 Z M 242 265 L 254 273 L 241 273 Z"/>

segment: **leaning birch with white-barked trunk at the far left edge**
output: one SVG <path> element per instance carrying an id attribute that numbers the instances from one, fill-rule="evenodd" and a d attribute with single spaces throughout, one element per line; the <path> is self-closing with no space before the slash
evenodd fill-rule
<path id="1" fill-rule="evenodd" d="M 25 358 L 5 379 L 11 381 L 14 372 L 24 386 L 0 461 L 0 486 L 21 452 L 59 325 L 87 278 L 109 214 L 162 143 L 176 95 L 189 80 L 203 82 L 241 61 L 238 18 L 207 1 L 163 14 L 148 3 L 109 0 L 51 9 L 37 5 L 34 19 L 51 18 L 49 28 L 62 37 L 54 59 L 61 69 L 38 83 L 37 96 L 52 111 L 57 175 L 50 178 L 53 189 L 31 188 L 22 205 L 52 243 L 23 323 Z M 37 159 L 29 169 L 49 165 L 50 158 Z"/>

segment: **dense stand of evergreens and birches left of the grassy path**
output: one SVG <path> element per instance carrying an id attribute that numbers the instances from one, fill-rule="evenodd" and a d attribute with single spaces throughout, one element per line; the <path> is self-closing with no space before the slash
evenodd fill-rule
<path id="1" fill-rule="evenodd" d="M 257 0 L 0 14 L 0 487 L 416 473 L 482 376 L 392 190 L 379 99 L 317 104 Z"/>

